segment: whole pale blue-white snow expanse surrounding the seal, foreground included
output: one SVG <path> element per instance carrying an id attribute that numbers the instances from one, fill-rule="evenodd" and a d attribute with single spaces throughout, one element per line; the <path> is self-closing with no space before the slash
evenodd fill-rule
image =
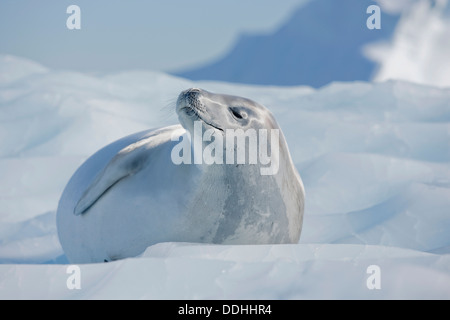
<path id="1" fill-rule="evenodd" d="M 91 154 L 177 123 L 201 87 L 268 107 L 306 190 L 299 244 L 161 243 L 80 265 L 70 290 L 55 211 Z M 1 299 L 449 299 L 450 89 L 403 81 L 308 87 L 91 76 L 0 56 Z M 381 288 L 370 290 L 371 265 Z"/>

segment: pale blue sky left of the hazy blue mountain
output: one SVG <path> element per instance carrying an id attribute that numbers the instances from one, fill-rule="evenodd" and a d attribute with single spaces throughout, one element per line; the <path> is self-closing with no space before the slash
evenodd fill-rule
<path id="1" fill-rule="evenodd" d="M 242 33 L 270 33 L 307 0 L 2 0 L 0 54 L 54 69 L 177 71 L 226 54 Z M 81 29 L 69 30 L 69 5 Z"/>

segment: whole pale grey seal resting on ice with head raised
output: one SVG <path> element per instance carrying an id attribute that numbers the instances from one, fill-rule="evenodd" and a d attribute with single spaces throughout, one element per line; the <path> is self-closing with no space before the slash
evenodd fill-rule
<path id="1" fill-rule="evenodd" d="M 113 142 L 69 180 L 57 227 L 71 263 L 134 257 L 159 242 L 299 241 L 304 187 L 270 111 L 192 88 L 180 93 L 176 112 L 181 125 Z M 266 141 L 270 157 L 258 149 L 250 161 L 252 141 Z"/>

